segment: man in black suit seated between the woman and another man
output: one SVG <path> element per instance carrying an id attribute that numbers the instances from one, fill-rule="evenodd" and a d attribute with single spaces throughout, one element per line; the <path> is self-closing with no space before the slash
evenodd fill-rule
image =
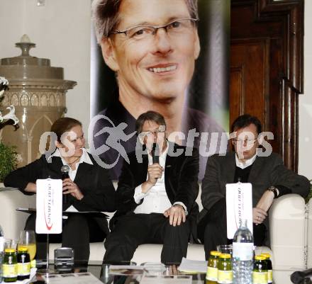
<path id="1" fill-rule="evenodd" d="M 104 262 L 130 261 L 140 244 L 154 243 L 164 245 L 162 263 L 180 263 L 195 231 L 199 154 L 167 142 L 160 113 L 143 113 L 135 127 L 143 148 L 129 154 L 130 164 L 123 162 Z"/>

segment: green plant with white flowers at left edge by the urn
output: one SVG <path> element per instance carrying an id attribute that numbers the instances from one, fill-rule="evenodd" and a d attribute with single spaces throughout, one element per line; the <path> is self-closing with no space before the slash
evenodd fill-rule
<path id="1" fill-rule="evenodd" d="M 0 76 L 0 106 L 1 101 L 4 99 L 4 91 L 8 89 L 9 81 Z M 7 120 L 13 120 L 14 125 L 18 123 L 18 118 L 15 115 L 14 106 L 7 108 L 8 113 L 3 115 L 0 109 L 0 124 L 5 123 Z M 1 127 L 1 126 L 0 126 Z M 9 174 L 10 171 L 16 169 L 18 159 L 15 147 L 5 145 L 0 141 L 0 188 L 3 187 L 4 177 Z"/>

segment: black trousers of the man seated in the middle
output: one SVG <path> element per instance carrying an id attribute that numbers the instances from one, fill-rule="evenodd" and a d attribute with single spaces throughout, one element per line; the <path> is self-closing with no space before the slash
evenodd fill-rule
<path id="1" fill-rule="evenodd" d="M 134 214 L 117 217 L 105 242 L 104 263 L 130 261 L 140 244 L 163 244 L 162 263 L 181 263 L 186 257 L 189 221 L 173 227 L 162 214 Z"/>

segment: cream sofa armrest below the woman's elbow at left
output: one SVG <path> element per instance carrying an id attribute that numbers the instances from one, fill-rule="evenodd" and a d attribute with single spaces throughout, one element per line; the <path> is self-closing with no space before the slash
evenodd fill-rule
<path id="1" fill-rule="evenodd" d="M 0 224 L 4 237 L 18 239 L 25 227 L 28 214 L 16 211 L 16 208 L 35 208 L 35 195 L 24 195 L 18 189 L 1 189 L 0 191 Z"/>

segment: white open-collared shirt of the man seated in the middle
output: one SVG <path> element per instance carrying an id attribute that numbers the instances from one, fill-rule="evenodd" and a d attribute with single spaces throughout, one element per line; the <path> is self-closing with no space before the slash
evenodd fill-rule
<path id="1" fill-rule="evenodd" d="M 165 165 L 166 165 L 166 157 L 168 152 L 168 144 L 164 152 L 160 154 L 160 166 L 164 169 L 162 171 L 162 176 L 160 178 L 157 178 L 157 181 L 155 183 L 155 186 L 152 186 L 147 193 L 142 192 L 142 185 L 137 186 L 135 188 L 135 193 L 133 195 L 133 198 L 135 200 L 135 203 L 140 203 L 140 200 L 143 200 L 143 203 L 138 205 L 137 208 L 135 208 L 134 212 L 135 214 L 143 213 L 143 214 L 150 214 L 150 213 L 163 213 L 168 208 L 172 207 L 172 204 L 170 203 L 170 200 L 167 196 L 166 187 L 165 187 Z M 152 165 L 152 155 L 149 153 L 148 155 L 148 164 Z M 148 178 L 148 173 L 146 180 Z M 186 214 L 186 206 L 182 202 L 176 202 L 174 205 L 179 204 L 182 205 Z"/>

